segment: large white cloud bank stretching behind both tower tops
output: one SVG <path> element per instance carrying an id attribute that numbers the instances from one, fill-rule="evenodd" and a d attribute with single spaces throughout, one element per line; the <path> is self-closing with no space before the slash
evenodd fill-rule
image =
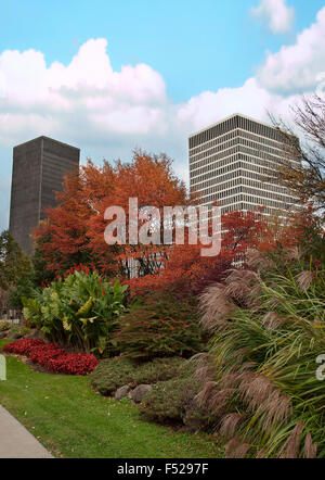
<path id="1" fill-rule="evenodd" d="M 166 93 L 150 65 L 114 72 L 105 39 L 90 39 L 68 65 L 47 65 L 42 52 L 0 53 L 0 169 L 10 178 L 12 147 L 48 135 L 81 148 L 82 160 L 130 159 L 140 147 L 176 159 L 187 181 L 187 137 L 235 112 L 268 122 L 288 118 L 299 93 L 310 93 L 325 72 L 325 8 L 295 45 L 269 54 L 256 77 L 237 88 L 204 91 L 181 104 Z M 323 77 L 322 77 L 323 78 Z M 9 182 L 9 181 L 8 181 Z M 2 197 L 8 198 L 9 191 Z M 4 195 L 5 193 L 5 195 Z M 0 229 L 8 217 L 2 199 Z"/>

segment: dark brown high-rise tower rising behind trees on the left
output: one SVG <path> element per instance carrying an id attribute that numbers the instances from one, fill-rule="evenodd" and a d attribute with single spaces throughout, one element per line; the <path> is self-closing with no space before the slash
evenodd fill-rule
<path id="1" fill-rule="evenodd" d="M 31 230 L 56 205 L 63 177 L 79 167 L 80 150 L 39 137 L 13 149 L 10 232 L 27 254 L 32 253 Z"/>

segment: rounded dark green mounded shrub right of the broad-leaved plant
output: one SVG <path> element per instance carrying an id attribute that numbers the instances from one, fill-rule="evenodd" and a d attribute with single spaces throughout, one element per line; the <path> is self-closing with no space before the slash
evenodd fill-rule
<path id="1" fill-rule="evenodd" d="M 203 349 L 196 302 L 165 291 L 147 294 L 120 319 L 114 340 L 131 358 L 192 356 Z"/>

